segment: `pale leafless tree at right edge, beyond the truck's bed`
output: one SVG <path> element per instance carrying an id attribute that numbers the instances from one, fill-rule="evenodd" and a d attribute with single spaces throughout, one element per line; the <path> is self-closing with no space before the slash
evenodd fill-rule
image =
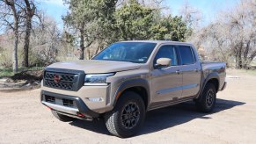
<path id="1" fill-rule="evenodd" d="M 194 34 L 194 41 L 228 66 L 235 61 L 236 68 L 249 68 L 256 57 L 256 1 L 241 1 L 230 11 L 223 11 L 215 22 Z"/>

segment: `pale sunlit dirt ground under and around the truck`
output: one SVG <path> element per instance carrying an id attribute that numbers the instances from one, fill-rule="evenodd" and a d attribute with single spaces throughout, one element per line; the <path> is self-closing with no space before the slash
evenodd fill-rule
<path id="1" fill-rule="evenodd" d="M 102 120 L 63 123 L 40 104 L 40 90 L 0 91 L 0 143 L 256 143 L 256 76 L 230 72 L 211 114 L 194 103 L 148 112 L 137 136 L 120 139 Z"/>

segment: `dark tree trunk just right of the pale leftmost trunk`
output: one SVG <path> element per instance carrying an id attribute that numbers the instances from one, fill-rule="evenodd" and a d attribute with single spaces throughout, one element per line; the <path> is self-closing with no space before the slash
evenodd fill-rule
<path id="1" fill-rule="evenodd" d="M 23 55 L 23 62 L 22 65 L 24 67 L 28 67 L 28 51 L 29 51 L 29 43 L 30 43 L 30 32 L 31 32 L 31 18 L 26 19 L 26 33 L 25 33 L 25 40 L 24 40 L 24 55 Z"/>

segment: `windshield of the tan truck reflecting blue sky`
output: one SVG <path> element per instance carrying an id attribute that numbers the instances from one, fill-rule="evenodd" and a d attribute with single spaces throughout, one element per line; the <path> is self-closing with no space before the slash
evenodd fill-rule
<path id="1" fill-rule="evenodd" d="M 156 43 L 146 42 L 120 42 L 106 47 L 92 60 L 130 61 L 145 63 L 148 61 Z"/>

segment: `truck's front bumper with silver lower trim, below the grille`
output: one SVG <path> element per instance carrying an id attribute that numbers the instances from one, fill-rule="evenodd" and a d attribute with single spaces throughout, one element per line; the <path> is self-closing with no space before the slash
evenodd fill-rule
<path id="1" fill-rule="evenodd" d="M 84 119 L 98 118 L 99 113 L 91 111 L 80 97 L 41 91 L 41 103 L 49 108 L 67 115 L 84 115 Z M 50 97 L 50 98 L 48 98 Z M 67 101 L 69 104 L 67 104 Z"/>

